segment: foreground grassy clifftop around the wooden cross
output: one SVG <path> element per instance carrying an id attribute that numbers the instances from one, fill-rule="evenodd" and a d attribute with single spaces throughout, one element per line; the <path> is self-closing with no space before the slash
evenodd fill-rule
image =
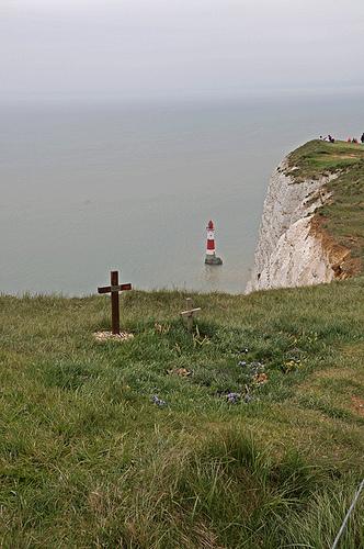
<path id="1" fill-rule="evenodd" d="M 363 475 L 363 290 L 194 295 L 193 335 L 185 294 L 129 292 L 123 344 L 93 338 L 107 298 L 0 298 L 2 546 L 329 547 Z"/>

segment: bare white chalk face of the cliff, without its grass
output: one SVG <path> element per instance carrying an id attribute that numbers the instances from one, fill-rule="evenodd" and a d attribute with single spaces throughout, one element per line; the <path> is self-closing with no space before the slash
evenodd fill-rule
<path id="1" fill-rule="evenodd" d="M 298 182 L 294 172 L 285 159 L 272 175 L 247 293 L 330 282 L 335 276 L 311 226 L 315 210 L 330 197 L 325 186 L 335 176 Z"/>

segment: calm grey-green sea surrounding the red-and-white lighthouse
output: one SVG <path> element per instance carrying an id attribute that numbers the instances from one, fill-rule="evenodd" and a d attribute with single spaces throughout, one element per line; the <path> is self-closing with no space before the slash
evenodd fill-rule
<path id="1" fill-rule="evenodd" d="M 364 131 L 360 97 L 0 104 L 0 292 L 242 292 L 269 177 L 305 141 Z M 205 267 L 216 223 L 223 267 Z"/>

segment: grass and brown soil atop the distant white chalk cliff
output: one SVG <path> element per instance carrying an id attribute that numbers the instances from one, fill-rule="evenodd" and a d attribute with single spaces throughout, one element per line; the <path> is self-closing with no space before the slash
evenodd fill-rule
<path id="1" fill-rule="evenodd" d="M 296 181 L 328 173 L 338 177 L 327 184 L 332 194 L 319 210 L 320 224 L 335 242 L 351 250 L 364 269 L 364 145 L 311 141 L 289 155 Z"/>

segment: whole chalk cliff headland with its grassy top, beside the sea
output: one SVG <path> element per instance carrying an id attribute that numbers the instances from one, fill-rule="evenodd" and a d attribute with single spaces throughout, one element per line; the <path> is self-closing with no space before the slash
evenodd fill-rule
<path id="1" fill-rule="evenodd" d="M 312 141 L 271 177 L 247 293 L 362 271 L 364 146 Z"/>

